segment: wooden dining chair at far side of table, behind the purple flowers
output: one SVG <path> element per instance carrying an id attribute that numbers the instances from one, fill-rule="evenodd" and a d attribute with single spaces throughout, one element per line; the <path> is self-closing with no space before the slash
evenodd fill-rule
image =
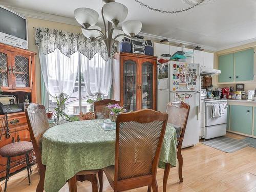
<path id="1" fill-rule="evenodd" d="M 93 103 L 95 119 L 108 119 L 109 118 L 110 113 L 108 111 L 108 108 L 106 108 L 106 106 L 108 106 L 109 103 L 120 105 L 120 101 L 111 100 L 111 99 L 103 99 L 100 101 L 95 101 Z"/>

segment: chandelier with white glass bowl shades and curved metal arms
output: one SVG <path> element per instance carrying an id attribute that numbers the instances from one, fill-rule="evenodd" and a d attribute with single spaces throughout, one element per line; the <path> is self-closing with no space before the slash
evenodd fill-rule
<path id="1" fill-rule="evenodd" d="M 140 32 L 142 23 L 138 20 L 123 22 L 128 14 L 128 9 L 123 4 L 116 3 L 114 0 L 103 0 L 102 2 L 105 3 L 101 9 L 104 24 L 103 31 L 95 25 L 99 19 L 97 11 L 90 8 L 77 8 L 74 15 L 77 22 L 82 26 L 83 35 L 89 38 L 90 42 L 102 40 L 110 57 L 113 45 L 121 41 L 124 36 L 135 39 L 134 35 Z M 117 26 L 121 23 L 122 30 L 119 30 Z"/>

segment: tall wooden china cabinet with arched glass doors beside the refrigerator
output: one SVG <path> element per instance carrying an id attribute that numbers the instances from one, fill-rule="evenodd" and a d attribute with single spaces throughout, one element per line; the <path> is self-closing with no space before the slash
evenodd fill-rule
<path id="1" fill-rule="evenodd" d="M 129 111 L 156 110 L 157 57 L 117 53 L 113 57 L 112 98 Z"/>

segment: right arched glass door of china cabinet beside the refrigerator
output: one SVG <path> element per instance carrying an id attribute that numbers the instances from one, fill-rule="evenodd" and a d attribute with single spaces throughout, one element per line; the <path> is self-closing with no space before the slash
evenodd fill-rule
<path id="1" fill-rule="evenodd" d="M 153 109 L 153 63 L 142 63 L 141 109 Z"/>

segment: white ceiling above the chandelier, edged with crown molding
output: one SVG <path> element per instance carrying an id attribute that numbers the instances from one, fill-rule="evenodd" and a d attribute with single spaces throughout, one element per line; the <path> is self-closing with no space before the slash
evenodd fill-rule
<path id="1" fill-rule="evenodd" d="M 217 0 L 187 12 L 166 14 L 151 11 L 134 0 L 116 0 L 124 4 L 129 13 L 126 18 L 141 20 L 142 32 L 153 36 L 202 45 L 212 50 L 222 50 L 256 41 L 256 1 Z M 164 10 L 187 8 L 181 0 L 141 0 L 151 7 Z M 100 13 L 101 0 L 0 0 L 0 4 L 49 13 L 74 19 L 78 7 L 89 7 Z M 102 25 L 102 19 L 99 24 Z M 159 37 L 158 37 L 159 38 Z"/>

